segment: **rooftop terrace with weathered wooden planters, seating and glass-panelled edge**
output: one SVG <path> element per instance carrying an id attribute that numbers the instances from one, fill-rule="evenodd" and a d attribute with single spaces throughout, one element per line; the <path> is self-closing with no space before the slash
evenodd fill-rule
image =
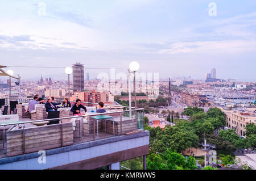
<path id="1" fill-rule="evenodd" d="M 92 104 L 91 110 L 96 106 L 95 103 L 82 103 Z M 35 116 L 35 120 L 31 120 L 18 111 L 18 120 L 9 123 L 5 121 L 2 124 L 0 121 L 0 168 L 7 163 L 38 158 L 38 151 L 40 150 L 46 150 L 46 154 L 51 155 L 63 151 L 88 149 L 102 144 L 122 142 L 122 140 L 132 141 L 134 138 L 145 136 L 149 141 L 149 134 L 144 131 L 144 110 L 142 108 L 129 110 L 129 107 L 119 105 L 105 106 L 110 107 L 106 109 L 107 112 L 105 113 L 86 112 L 85 115 L 75 117 L 73 115 L 69 116 L 70 108 L 61 108 L 59 118 L 41 120 L 35 119 Z M 24 111 L 24 103 L 23 105 L 18 104 L 17 107 L 20 111 Z M 41 114 L 40 116 L 43 117 L 43 110 L 43 106 L 36 108 L 36 114 Z M 90 110 L 89 107 L 88 110 Z M 14 116 L 18 117 L 18 115 Z M 54 120 L 59 120 L 59 124 L 47 124 Z M 125 148 L 128 147 L 129 142 L 126 142 Z M 110 152 L 113 152 L 116 148 L 111 149 Z M 148 146 L 143 149 L 144 152 L 146 151 L 145 153 L 142 148 L 140 150 L 143 153 L 142 155 L 145 155 L 148 152 Z M 135 152 L 133 152 L 131 158 L 138 156 Z M 55 166 L 58 165 L 52 165 L 52 167 Z M 44 167 L 44 169 L 47 168 Z M 93 168 L 90 167 L 90 169 Z"/>

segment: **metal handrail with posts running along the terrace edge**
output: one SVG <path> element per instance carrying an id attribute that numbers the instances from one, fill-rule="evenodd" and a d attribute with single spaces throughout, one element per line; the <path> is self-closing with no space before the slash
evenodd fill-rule
<path id="1" fill-rule="evenodd" d="M 100 115 L 112 115 L 112 114 L 117 114 L 119 113 L 119 116 L 120 116 L 120 136 L 122 136 L 122 116 L 123 116 L 123 113 L 125 112 L 134 112 L 134 115 L 133 115 L 133 119 L 137 119 L 137 130 L 141 130 L 141 131 L 144 131 L 144 109 L 143 108 L 137 108 L 134 110 L 125 110 L 125 111 L 114 111 L 114 112 L 105 112 L 105 113 L 92 113 L 90 115 L 81 115 L 81 116 L 68 116 L 68 117 L 59 117 L 59 118 L 55 118 L 55 119 L 43 119 L 43 120 L 33 120 L 33 121 L 22 121 L 22 122 L 19 122 L 19 123 L 8 123 L 8 124 L 1 124 L 0 127 L 3 127 L 3 148 L 2 149 L 5 149 L 5 127 L 7 126 L 14 126 L 14 125 L 18 125 L 20 129 L 23 129 L 23 136 L 25 137 L 25 127 L 26 125 L 25 124 L 31 124 L 31 123 L 40 123 L 40 122 L 43 122 L 43 121 L 54 121 L 54 120 L 60 120 L 60 124 L 61 124 L 61 127 L 63 126 L 63 120 L 64 119 L 73 119 L 73 118 L 80 118 L 80 117 L 93 117 L 93 116 L 100 116 Z M 143 112 L 143 118 L 140 119 L 139 116 L 139 113 L 140 115 L 142 115 Z M 116 118 L 117 116 L 115 116 Z M 139 123 L 143 121 L 143 123 Z M 93 128 L 94 128 L 94 131 L 93 131 L 93 141 L 96 140 L 96 134 L 95 134 L 95 122 L 96 121 L 93 121 Z M 114 120 L 113 120 L 113 123 L 114 123 Z M 20 125 L 23 125 L 23 128 L 20 127 Z M 61 134 L 63 135 L 63 130 L 61 130 Z M 23 139 L 23 142 L 25 141 L 25 139 Z M 85 141 L 86 142 L 86 141 Z M 24 153 L 26 153 L 26 145 L 25 143 L 23 143 L 24 145 Z M 63 146 L 63 145 L 61 145 Z"/>

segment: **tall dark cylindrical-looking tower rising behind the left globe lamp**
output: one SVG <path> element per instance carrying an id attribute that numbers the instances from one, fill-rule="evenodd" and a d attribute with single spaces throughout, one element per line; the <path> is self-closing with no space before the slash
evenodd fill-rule
<path id="1" fill-rule="evenodd" d="M 73 91 L 84 91 L 84 65 L 73 64 Z"/>

